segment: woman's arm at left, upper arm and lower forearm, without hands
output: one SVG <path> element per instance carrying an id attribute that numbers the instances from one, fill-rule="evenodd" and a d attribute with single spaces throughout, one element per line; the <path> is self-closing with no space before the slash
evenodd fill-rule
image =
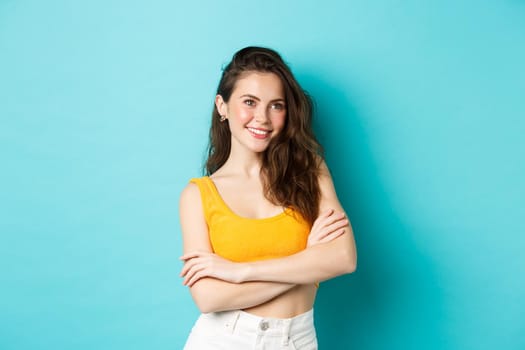
<path id="1" fill-rule="evenodd" d="M 189 184 L 180 198 L 180 222 L 184 252 L 212 252 L 208 226 L 204 219 L 200 192 Z M 260 305 L 294 287 L 290 283 L 247 282 L 242 284 L 205 277 L 190 288 L 193 300 L 201 312 L 244 309 Z"/>

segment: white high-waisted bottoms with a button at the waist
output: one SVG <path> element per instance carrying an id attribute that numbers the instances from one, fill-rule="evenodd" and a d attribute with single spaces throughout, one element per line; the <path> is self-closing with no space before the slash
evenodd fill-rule
<path id="1" fill-rule="evenodd" d="M 201 314 L 184 350 L 317 350 L 313 309 L 292 318 L 244 311 Z"/>

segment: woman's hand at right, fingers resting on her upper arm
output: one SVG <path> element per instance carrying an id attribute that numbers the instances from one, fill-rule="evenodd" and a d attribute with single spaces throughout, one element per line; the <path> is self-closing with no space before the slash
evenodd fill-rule
<path id="1" fill-rule="evenodd" d="M 349 221 L 343 212 L 329 209 L 321 213 L 312 225 L 306 246 L 311 247 L 336 239 L 345 233 L 345 227 L 348 223 Z"/>

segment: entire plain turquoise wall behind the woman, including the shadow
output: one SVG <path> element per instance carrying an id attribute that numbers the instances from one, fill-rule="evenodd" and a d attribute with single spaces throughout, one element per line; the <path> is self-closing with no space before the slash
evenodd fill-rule
<path id="1" fill-rule="evenodd" d="M 525 2 L 0 1 L 0 348 L 180 349 L 220 68 L 282 53 L 359 251 L 323 349 L 525 349 Z"/>

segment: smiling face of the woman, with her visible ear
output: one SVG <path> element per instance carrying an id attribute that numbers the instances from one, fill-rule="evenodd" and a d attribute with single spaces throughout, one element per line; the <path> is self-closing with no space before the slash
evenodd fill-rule
<path id="1" fill-rule="evenodd" d="M 283 129 L 286 104 L 281 80 L 274 73 L 247 72 L 237 80 L 226 103 L 217 95 L 219 114 L 228 120 L 232 151 L 263 152 Z"/>

